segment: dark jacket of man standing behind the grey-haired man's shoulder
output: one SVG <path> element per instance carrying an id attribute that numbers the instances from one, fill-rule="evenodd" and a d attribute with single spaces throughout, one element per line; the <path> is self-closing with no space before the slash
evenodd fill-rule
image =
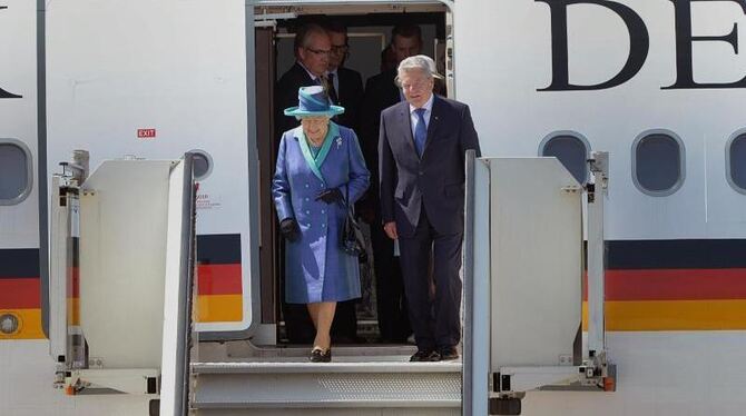
<path id="1" fill-rule="evenodd" d="M 371 188 L 363 202 L 375 206 L 379 202 L 379 127 L 381 126 L 381 111 L 401 101 L 399 87 L 394 85 L 396 70 L 392 69 L 371 77 L 365 82 L 365 97 L 360 110 L 360 146 L 365 157 L 365 164 L 371 170 Z"/>

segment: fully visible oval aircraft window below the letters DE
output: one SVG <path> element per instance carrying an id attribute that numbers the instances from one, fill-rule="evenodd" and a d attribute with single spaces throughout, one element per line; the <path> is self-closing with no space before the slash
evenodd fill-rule
<path id="1" fill-rule="evenodd" d="M 632 143 L 632 178 L 642 192 L 665 197 L 684 184 L 684 145 L 667 130 L 641 133 Z"/>

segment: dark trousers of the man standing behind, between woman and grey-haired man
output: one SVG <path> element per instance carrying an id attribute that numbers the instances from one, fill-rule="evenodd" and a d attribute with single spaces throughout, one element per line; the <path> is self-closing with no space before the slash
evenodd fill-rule
<path id="1" fill-rule="evenodd" d="M 394 257 L 394 240 L 381 226 L 380 212 L 371 225 L 373 267 L 375 269 L 375 304 L 379 330 L 384 343 L 404 343 L 412 334 L 406 313 L 404 281 L 399 257 Z"/>

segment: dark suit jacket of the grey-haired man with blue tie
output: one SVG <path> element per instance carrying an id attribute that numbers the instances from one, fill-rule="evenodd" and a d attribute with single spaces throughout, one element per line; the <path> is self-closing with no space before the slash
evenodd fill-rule
<path id="1" fill-rule="evenodd" d="M 424 206 L 430 224 L 442 235 L 463 232 L 464 159 L 480 155 L 469 106 L 435 96 L 422 159 L 414 149 L 410 105 L 400 102 L 381 113 L 380 187 L 383 222 L 396 221 L 411 237 Z"/>

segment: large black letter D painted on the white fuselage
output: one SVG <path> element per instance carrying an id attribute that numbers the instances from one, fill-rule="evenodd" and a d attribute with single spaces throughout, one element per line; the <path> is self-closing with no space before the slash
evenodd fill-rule
<path id="1" fill-rule="evenodd" d="M 639 72 L 648 57 L 650 38 L 642 19 L 632 9 L 609 0 L 534 0 L 547 3 L 551 12 L 552 83 L 539 91 L 587 91 L 620 86 Z M 595 86 L 570 83 L 568 70 L 567 8 L 571 4 L 596 4 L 611 10 L 629 31 L 629 55 L 625 67 L 614 78 Z"/>

